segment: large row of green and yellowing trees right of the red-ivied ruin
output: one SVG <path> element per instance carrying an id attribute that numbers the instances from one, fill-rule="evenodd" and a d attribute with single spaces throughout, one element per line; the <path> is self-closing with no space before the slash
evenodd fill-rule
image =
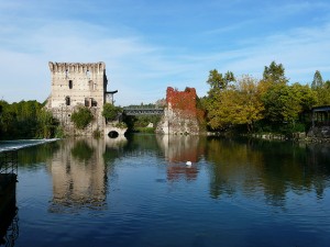
<path id="1" fill-rule="evenodd" d="M 282 64 L 265 66 L 263 78 L 237 78 L 210 70 L 208 94 L 200 99 L 210 131 L 293 133 L 307 131 L 310 110 L 330 104 L 330 81 L 316 71 L 309 85 L 289 85 Z"/>

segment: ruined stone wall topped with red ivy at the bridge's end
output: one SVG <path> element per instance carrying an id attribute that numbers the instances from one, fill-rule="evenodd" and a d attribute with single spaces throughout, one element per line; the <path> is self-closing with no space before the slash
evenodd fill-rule
<path id="1" fill-rule="evenodd" d="M 157 125 L 156 133 L 198 134 L 196 99 L 197 94 L 194 88 L 178 91 L 168 87 L 166 90 L 167 108 Z"/>

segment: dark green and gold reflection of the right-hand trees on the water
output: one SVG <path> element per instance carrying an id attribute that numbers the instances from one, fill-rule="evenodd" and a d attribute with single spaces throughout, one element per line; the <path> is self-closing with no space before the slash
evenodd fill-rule
<path id="1" fill-rule="evenodd" d="M 211 138 L 206 159 L 212 164 L 212 198 L 241 192 L 263 193 L 266 202 L 284 206 L 288 191 L 315 190 L 322 198 L 329 187 L 329 147 L 276 142 Z"/>

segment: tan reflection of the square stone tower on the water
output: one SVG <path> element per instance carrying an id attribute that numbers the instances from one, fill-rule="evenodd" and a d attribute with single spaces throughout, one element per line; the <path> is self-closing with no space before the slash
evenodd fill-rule
<path id="1" fill-rule="evenodd" d="M 53 177 L 50 212 L 107 209 L 108 168 L 105 151 L 109 145 L 116 146 L 127 141 L 124 137 L 116 141 L 106 138 L 70 139 L 61 144 L 48 166 Z"/>

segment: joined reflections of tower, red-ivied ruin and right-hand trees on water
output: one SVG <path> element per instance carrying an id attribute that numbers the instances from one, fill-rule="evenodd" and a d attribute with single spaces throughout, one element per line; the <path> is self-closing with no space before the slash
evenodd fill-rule
<path id="1" fill-rule="evenodd" d="M 202 168 L 212 199 L 243 194 L 279 207 L 285 207 L 288 192 L 314 191 L 322 199 L 330 182 L 330 145 L 324 144 L 133 135 L 67 139 L 41 150 L 46 155 L 36 156 L 48 160 L 53 177 L 51 212 L 107 209 L 109 176 L 116 175 L 116 160 L 124 157 L 165 159 L 167 181 L 197 180 Z M 191 166 L 186 166 L 188 160 Z"/>

